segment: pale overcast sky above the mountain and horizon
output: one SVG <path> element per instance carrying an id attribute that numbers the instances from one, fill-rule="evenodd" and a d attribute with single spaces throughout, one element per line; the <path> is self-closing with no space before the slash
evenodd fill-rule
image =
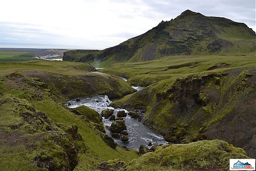
<path id="1" fill-rule="evenodd" d="M 105 49 L 189 9 L 245 23 L 255 0 L 1 0 L 0 47 Z"/>

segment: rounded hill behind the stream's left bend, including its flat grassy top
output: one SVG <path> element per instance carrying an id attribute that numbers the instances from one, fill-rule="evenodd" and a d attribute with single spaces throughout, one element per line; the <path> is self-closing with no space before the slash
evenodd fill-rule
<path id="1" fill-rule="evenodd" d="M 63 102 L 78 96 L 108 95 L 109 98 L 120 98 L 135 90 L 117 76 L 91 73 L 91 65 L 59 62 L 1 62 L 2 74 L 18 71 L 24 75 L 39 78 L 48 85 L 48 89 Z M 36 81 L 36 80 L 35 80 Z M 38 81 L 38 80 L 37 80 Z"/>

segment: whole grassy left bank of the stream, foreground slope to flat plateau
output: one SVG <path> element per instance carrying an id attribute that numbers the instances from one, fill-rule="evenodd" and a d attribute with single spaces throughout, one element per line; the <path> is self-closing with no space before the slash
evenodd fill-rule
<path id="1" fill-rule="evenodd" d="M 81 63 L 33 61 L 0 65 L 0 170 L 93 170 L 104 160 L 121 158 L 128 162 L 138 157 L 136 151 L 113 149 L 110 144 L 114 142 L 102 131 L 102 122 L 95 119 L 99 115 L 90 109 L 84 109 L 82 115 L 69 110 L 62 102 L 70 96 L 65 91 L 58 92 L 58 87 L 54 89 L 57 84 L 51 83 L 68 78 L 67 83 L 72 84 L 79 76 L 92 84 L 102 84 L 98 90 L 80 95 L 108 93 L 104 88 L 110 88 L 122 96 L 125 91 L 134 92 L 125 81 L 90 73 L 94 68 Z M 19 72 L 13 73 L 17 68 Z M 81 84 L 84 82 L 77 87 Z M 71 86 L 74 92 L 77 87 Z"/>

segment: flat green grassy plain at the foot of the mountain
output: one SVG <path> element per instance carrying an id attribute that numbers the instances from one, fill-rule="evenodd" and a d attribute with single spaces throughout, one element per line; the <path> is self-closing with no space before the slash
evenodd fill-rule
<path id="1" fill-rule="evenodd" d="M 245 55 L 202 55 L 202 56 L 167 56 L 160 59 L 145 62 L 125 62 L 114 65 L 100 71 L 129 78 L 128 82 L 137 86 L 148 86 L 161 80 L 175 81 L 188 75 L 218 72 L 226 69 L 207 71 L 218 63 L 230 64 L 228 69 L 250 67 L 255 64 L 255 53 Z M 186 67 L 179 67 L 189 63 L 198 62 Z M 177 66 L 177 67 L 176 67 Z M 175 69 L 169 69 L 169 68 Z"/>

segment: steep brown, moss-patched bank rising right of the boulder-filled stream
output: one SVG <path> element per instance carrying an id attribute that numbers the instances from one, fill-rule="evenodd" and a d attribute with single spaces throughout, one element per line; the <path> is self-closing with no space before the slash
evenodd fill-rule
<path id="1" fill-rule="evenodd" d="M 251 139 L 255 130 L 252 123 L 247 123 L 255 118 L 253 103 L 245 102 L 253 101 L 253 73 L 254 68 L 249 67 L 191 75 L 176 81 L 166 79 L 111 105 L 146 109 L 144 123 L 168 135 L 172 142 L 217 137 L 246 148 L 246 152 L 253 156 L 253 146 L 242 140 Z M 236 133 L 232 131 L 233 127 L 239 128 Z M 183 129 L 185 132 L 179 134 Z M 243 136 L 234 138 L 238 133 Z"/>

